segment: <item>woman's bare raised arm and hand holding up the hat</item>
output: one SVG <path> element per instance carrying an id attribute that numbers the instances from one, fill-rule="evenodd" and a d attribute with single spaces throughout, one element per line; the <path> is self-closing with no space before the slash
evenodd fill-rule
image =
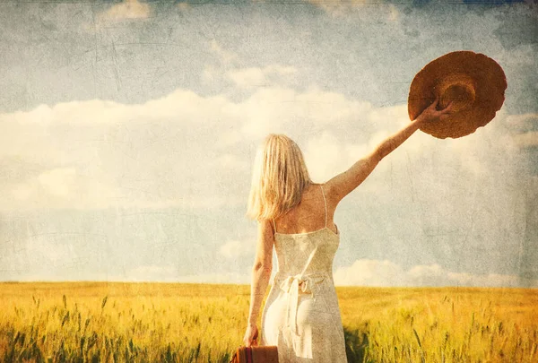
<path id="1" fill-rule="evenodd" d="M 398 146 L 404 143 L 421 125 L 427 122 L 436 122 L 439 119 L 444 119 L 450 115 L 452 104 L 440 111 L 436 109 L 438 99 L 436 99 L 429 108 L 426 108 L 419 117 L 412 123 L 406 125 L 396 134 L 388 137 L 384 142 L 377 145 L 376 150 L 371 152 L 366 157 L 354 163 L 350 169 L 333 177 L 325 183 L 327 194 L 333 204 L 333 207 L 338 204 L 344 196 L 350 194 L 357 186 L 366 179 L 373 169 L 376 168 L 379 161 L 383 160 L 389 153 L 394 151 Z"/>

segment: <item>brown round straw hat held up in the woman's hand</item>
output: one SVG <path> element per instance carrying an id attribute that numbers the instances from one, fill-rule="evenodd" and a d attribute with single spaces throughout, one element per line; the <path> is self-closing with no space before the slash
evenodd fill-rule
<path id="1" fill-rule="evenodd" d="M 438 109 L 452 101 L 453 113 L 443 121 L 427 123 L 421 131 L 444 139 L 462 137 L 486 125 L 504 102 L 505 73 L 488 56 L 458 51 L 439 56 L 412 80 L 407 110 L 414 120 L 438 97 Z"/>

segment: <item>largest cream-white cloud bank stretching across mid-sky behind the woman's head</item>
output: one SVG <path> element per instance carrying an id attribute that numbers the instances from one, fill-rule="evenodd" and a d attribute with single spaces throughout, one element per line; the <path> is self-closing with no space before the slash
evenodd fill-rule
<path id="1" fill-rule="evenodd" d="M 417 132 L 361 188 L 392 193 L 389 182 L 397 176 L 400 194 L 418 190 L 430 201 L 442 195 L 434 193 L 439 186 L 451 186 L 446 197 L 469 194 L 469 181 L 457 173 L 488 179 L 502 174 L 496 191 L 512 195 L 503 188 L 513 185 L 518 148 L 503 129 L 506 117 L 501 110 L 490 125 L 456 140 Z M 0 208 L 244 204 L 247 191 L 224 194 L 219 175 L 233 169 L 238 178 L 249 179 L 254 146 L 268 133 L 289 134 L 303 146 L 312 177 L 325 181 L 409 122 L 405 105 L 374 108 L 335 92 L 277 86 L 240 101 L 177 90 L 143 104 L 41 105 L 0 114 L 0 156 L 11 160 L 4 162 L 26 171 L 39 166 L 23 180 L 0 180 Z M 208 169 L 216 170 L 216 177 L 207 178 Z M 503 203 L 498 209 L 514 208 Z"/>

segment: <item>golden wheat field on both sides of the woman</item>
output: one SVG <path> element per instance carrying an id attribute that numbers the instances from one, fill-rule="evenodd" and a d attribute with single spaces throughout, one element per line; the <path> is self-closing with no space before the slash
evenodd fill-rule
<path id="1" fill-rule="evenodd" d="M 351 362 L 536 362 L 538 290 L 337 288 Z M 249 287 L 0 283 L 0 359 L 228 362 Z"/>

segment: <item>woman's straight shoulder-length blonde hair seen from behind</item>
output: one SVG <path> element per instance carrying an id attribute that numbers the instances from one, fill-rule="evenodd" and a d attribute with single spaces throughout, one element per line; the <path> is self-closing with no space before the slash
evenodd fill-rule
<path id="1" fill-rule="evenodd" d="M 247 216 L 256 220 L 280 217 L 299 204 L 310 183 L 297 143 L 284 134 L 269 134 L 256 152 Z"/>

